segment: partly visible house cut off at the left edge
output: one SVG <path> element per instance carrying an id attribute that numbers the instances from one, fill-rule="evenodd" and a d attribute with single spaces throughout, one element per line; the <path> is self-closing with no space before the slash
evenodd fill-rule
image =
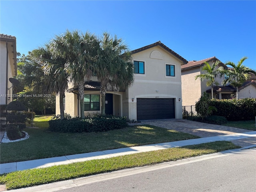
<path id="1" fill-rule="evenodd" d="M 9 78 L 17 75 L 16 37 L 0 34 L 0 104 L 12 101 L 12 83 Z"/>

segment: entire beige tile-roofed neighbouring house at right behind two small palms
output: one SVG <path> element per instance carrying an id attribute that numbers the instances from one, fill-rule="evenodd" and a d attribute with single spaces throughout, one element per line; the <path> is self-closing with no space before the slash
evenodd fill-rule
<path id="1" fill-rule="evenodd" d="M 201 68 L 204 66 L 204 62 L 212 65 L 216 60 L 218 60 L 216 57 L 210 57 L 200 61 L 189 61 L 187 64 L 181 66 L 182 106 L 195 105 L 203 92 L 207 92 L 211 97 L 211 88 L 206 86 L 206 80 L 195 80 L 195 76 L 203 73 Z M 218 67 L 220 66 L 228 69 L 223 63 L 218 65 Z M 219 85 L 213 87 L 214 98 L 231 99 L 236 95 L 236 88 L 230 84 L 222 86 L 221 82 L 224 78 L 225 76 L 216 78 Z M 256 76 L 254 74 L 239 88 L 238 98 L 256 98 Z"/>

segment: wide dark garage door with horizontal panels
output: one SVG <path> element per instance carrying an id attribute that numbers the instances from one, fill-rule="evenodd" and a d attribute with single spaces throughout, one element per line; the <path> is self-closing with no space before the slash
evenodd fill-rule
<path id="1" fill-rule="evenodd" d="M 137 98 L 137 120 L 175 118 L 174 98 Z"/>

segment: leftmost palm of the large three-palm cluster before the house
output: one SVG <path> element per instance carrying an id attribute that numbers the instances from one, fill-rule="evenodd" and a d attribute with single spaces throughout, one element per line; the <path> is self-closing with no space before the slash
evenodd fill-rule
<path id="1" fill-rule="evenodd" d="M 44 47 L 30 52 L 29 60 L 25 67 L 26 82 L 32 85 L 33 90 L 40 90 L 44 94 L 56 92 L 60 94 L 60 116 L 64 118 L 65 90 L 68 87 L 68 72 L 66 60 L 63 57 L 54 56 L 54 42 L 45 44 Z"/>

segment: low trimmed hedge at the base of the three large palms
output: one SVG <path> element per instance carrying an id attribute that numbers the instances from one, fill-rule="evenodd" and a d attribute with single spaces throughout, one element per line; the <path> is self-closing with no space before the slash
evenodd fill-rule
<path id="1" fill-rule="evenodd" d="M 127 126 L 126 117 L 96 116 L 86 118 L 55 119 L 49 121 L 49 130 L 54 132 L 102 132 Z"/>

